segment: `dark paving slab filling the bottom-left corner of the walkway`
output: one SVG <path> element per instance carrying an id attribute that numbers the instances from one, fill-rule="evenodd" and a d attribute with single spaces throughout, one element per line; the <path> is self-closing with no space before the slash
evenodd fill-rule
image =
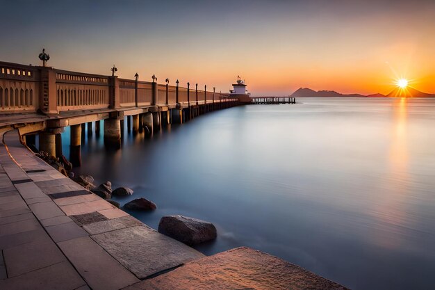
<path id="1" fill-rule="evenodd" d="M 0 280 L 0 289 L 74 290 L 85 282 L 67 261 L 38 269 L 17 277 Z"/>

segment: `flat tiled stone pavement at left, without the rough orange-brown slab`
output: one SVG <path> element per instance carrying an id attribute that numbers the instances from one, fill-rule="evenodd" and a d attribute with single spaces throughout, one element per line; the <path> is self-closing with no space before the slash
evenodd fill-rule
<path id="1" fill-rule="evenodd" d="M 122 289 L 204 257 L 60 174 L 16 131 L 3 142 L 0 289 Z"/>

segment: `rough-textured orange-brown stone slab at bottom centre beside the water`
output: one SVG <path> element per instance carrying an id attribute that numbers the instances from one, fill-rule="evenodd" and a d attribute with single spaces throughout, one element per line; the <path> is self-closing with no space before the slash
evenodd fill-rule
<path id="1" fill-rule="evenodd" d="M 236 248 L 191 261 L 174 271 L 145 280 L 139 289 L 292 289 L 348 290 L 265 252 Z"/>

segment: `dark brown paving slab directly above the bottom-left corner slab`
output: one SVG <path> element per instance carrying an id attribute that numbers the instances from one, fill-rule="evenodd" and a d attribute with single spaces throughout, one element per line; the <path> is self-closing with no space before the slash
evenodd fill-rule
<path id="1" fill-rule="evenodd" d="M 49 237 L 3 250 L 8 277 L 15 277 L 66 261 Z"/>

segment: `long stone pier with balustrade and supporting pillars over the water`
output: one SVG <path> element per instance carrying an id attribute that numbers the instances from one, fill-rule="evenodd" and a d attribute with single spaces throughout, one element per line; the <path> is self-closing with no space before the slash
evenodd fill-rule
<path id="1" fill-rule="evenodd" d="M 22 143 L 60 157 L 65 127 L 71 127 L 71 156 L 81 165 L 81 136 L 100 134 L 119 147 L 124 125 L 133 134 L 149 134 L 167 124 L 182 124 L 199 115 L 243 104 L 228 94 L 152 81 L 57 70 L 46 66 L 0 62 L 0 127 L 18 129 Z M 126 119 L 126 124 L 124 124 Z M 95 126 L 92 123 L 95 122 Z M 35 135 L 39 136 L 39 146 Z"/>

